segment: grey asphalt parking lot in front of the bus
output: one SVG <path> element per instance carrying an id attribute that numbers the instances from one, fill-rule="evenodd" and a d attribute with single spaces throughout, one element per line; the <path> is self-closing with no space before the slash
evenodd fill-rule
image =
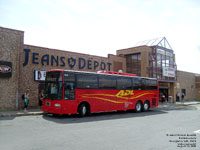
<path id="1" fill-rule="evenodd" d="M 6 150 L 196 150 L 199 107 L 163 106 L 143 113 L 98 113 L 85 118 L 1 117 L 0 145 Z"/>

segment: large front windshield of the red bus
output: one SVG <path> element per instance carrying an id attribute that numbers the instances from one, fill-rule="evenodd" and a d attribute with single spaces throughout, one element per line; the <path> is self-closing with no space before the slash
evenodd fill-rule
<path id="1" fill-rule="evenodd" d="M 61 100 L 63 95 L 62 72 L 47 72 L 44 98 Z"/>

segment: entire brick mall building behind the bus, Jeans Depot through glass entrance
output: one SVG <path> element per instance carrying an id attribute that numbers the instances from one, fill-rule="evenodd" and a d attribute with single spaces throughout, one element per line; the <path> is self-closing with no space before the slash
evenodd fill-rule
<path id="1" fill-rule="evenodd" d="M 161 92 L 173 97 L 177 85 L 185 88 L 182 75 L 179 76 L 176 72 L 175 55 L 165 38 L 153 46 L 140 45 L 118 50 L 117 55 L 99 57 L 26 45 L 23 31 L 0 27 L 0 110 L 21 109 L 23 106 L 21 95 L 26 89 L 30 89 L 29 105 L 38 106 L 38 90 L 43 86 L 45 71 L 50 69 L 91 72 L 122 70 L 139 76 L 153 77 L 159 80 Z M 39 78 L 38 73 L 42 73 L 42 77 L 40 75 Z M 177 77 L 180 78 L 178 82 Z M 200 99 L 200 78 L 192 73 L 190 78 L 192 80 L 190 87 L 193 87 L 195 96 L 191 94 L 188 98 Z M 190 93 L 189 90 L 186 91 Z"/>

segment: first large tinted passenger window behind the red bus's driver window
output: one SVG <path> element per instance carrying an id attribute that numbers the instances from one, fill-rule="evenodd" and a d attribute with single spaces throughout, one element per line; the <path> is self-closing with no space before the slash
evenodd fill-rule
<path id="1" fill-rule="evenodd" d="M 77 88 L 80 89 L 96 89 L 98 88 L 98 80 L 95 75 L 80 74 L 77 75 Z"/>

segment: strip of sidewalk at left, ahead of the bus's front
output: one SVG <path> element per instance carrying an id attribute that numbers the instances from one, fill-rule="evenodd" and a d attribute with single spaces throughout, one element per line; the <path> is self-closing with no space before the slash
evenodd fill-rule
<path id="1" fill-rule="evenodd" d="M 17 116 L 30 116 L 30 115 L 42 115 L 43 111 L 39 108 L 29 109 L 27 112 L 24 110 L 13 111 L 0 111 L 0 117 L 17 117 Z"/>

